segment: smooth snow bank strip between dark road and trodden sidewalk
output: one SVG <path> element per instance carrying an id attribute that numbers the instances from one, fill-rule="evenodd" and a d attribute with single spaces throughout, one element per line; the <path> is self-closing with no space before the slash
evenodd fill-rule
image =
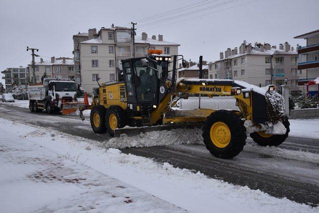
<path id="1" fill-rule="evenodd" d="M 318 208 L 277 199 L 259 190 L 234 186 L 210 179 L 200 172 L 173 168 L 152 159 L 127 155 L 117 149 L 104 149 L 95 141 L 57 131 L 39 130 L 0 119 L 6 131 L 58 154 L 80 156 L 85 165 L 142 189 L 160 199 L 190 212 L 318 212 Z M 213 209 L 212 209 L 213 207 Z"/>

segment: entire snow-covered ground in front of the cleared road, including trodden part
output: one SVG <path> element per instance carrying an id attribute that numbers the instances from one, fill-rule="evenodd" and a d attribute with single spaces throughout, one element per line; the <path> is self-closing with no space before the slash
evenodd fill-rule
<path id="1" fill-rule="evenodd" d="M 0 119 L 0 135 L 1 212 L 319 211 L 57 131 Z"/>

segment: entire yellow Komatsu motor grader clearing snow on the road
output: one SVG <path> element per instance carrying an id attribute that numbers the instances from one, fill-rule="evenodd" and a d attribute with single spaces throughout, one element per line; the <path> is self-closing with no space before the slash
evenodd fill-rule
<path id="1" fill-rule="evenodd" d="M 284 100 L 274 85 L 263 89 L 234 80 L 176 80 L 176 63 L 181 61 L 183 66 L 185 63 L 182 55 L 164 55 L 160 50 L 148 53 L 146 57 L 122 60 L 123 70 L 118 72 L 118 80 L 99 84 L 91 105 L 69 103 L 63 106 L 63 113 L 78 106 L 83 120 L 82 111 L 91 109 L 93 131 L 108 132 L 111 136 L 132 129 L 139 133 L 148 128 L 160 130 L 200 124 L 206 148 L 219 158 L 238 155 L 246 144 L 247 133 L 261 146 L 278 146 L 288 137 Z M 172 109 L 176 99 L 187 99 L 192 94 L 211 98 L 232 96 L 240 110 Z M 125 126 L 137 128 L 121 129 Z"/>

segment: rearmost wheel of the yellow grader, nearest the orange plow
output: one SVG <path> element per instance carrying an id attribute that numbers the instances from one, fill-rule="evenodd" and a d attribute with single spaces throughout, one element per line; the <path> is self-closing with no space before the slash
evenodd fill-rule
<path id="1" fill-rule="evenodd" d="M 90 122 L 93 131 L 97 134 L 105 133 L 105 107 L 104 106 L 95 106 L 91 110 Z"/>

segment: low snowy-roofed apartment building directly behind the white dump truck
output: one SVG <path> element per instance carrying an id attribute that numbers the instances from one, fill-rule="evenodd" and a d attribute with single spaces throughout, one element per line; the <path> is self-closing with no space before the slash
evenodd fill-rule
<path id="1" fill-rule="evenodd" d="M 32 79 L 32 67 L 28 65 L 30 70 L 30 79 Z M 46 73 L 48 78 L 66 78 L 74 79 L 76 83 L 80 83 L 80 77 L 75 77 L 73 58 L 51 57 L 51 60 L 44 61 L 40 58 L 40 62 L 35 63 L 35 78 L 36 83 L 41 82 L 41 78 Z"/>

